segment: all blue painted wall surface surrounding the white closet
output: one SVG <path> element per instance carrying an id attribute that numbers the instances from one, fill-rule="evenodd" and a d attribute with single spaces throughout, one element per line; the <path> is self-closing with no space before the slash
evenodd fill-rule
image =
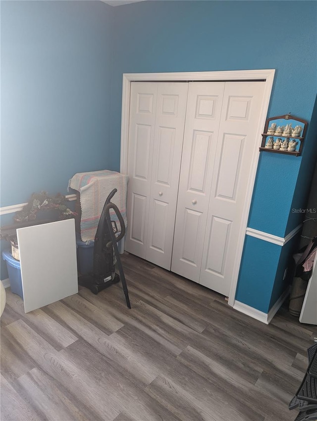
<path id="1" fill-rule="evenodd" d="M 119 170 L 122 73 L 274 68 L 268 115 L 310 121 L 317 3 L 270 3 L 2 1 L 1 206 L 65 193 L 76 172 Z M 290 211 L 306 206 L 312 127 L 302 157 L 261 154 L 250 227 L 284 237 L 299 223 Z M 246 237 L 237 299 L 268 311 L 285 287 L 285 254 Z"/>

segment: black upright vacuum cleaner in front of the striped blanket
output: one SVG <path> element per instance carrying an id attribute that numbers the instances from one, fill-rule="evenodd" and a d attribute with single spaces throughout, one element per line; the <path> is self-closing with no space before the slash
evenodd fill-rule
<path id="1" fill-rule="evenodd" d="M 117 206 L 110 202 L 116 192 L 117 189 L 113 189 L 106 198 L 99 219 L 94 244 L 93 273 L 79 276 L 78 283 L 89 288 L 94 294 L 98 294 L 103 289 L 119 282 L 121 279 L 125 300 L 128 308 L 131 309 L 128 288 L 117 246 L 117 243 L 125 235 L 125 224 Z M 121 232 L 117 236 L 118 228 L 116 222 L 110 219 L 110 209 L 113 209 L 120 222 Z M 120 276 L 115 273 L 115 263 L 118 265 Z"/>

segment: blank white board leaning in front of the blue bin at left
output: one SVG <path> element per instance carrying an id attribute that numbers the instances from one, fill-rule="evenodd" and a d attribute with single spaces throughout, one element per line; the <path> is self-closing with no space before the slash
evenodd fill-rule
<path id="1" fill-rule="evenodd" d="M 78 292 L 75 221 L 16 230 L 25 313 Z"/>

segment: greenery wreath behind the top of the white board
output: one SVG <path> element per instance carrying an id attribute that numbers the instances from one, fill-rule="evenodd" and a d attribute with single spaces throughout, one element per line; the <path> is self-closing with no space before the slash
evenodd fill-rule
<path id="1" fill-rule="evenodd" d="M 60 193 L 55 196 L 48 196 L 47 192 L 33 193 L 29 202 L 13 216 L 15 222 L 33 221 L 36 219 L 38 211 L 54 210 L 58 214 L 59 220 L 69 219 L 77 215 L 71 211 L 65 203 L 67 199 Z"/>

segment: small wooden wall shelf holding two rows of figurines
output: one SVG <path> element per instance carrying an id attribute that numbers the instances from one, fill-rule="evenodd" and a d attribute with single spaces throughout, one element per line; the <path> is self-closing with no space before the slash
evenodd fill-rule
<path id="1" fill-rule="evenodd" d="M 290 114 L 266 120 L 260 151 L 300 156 L 307 122 Z"/>

